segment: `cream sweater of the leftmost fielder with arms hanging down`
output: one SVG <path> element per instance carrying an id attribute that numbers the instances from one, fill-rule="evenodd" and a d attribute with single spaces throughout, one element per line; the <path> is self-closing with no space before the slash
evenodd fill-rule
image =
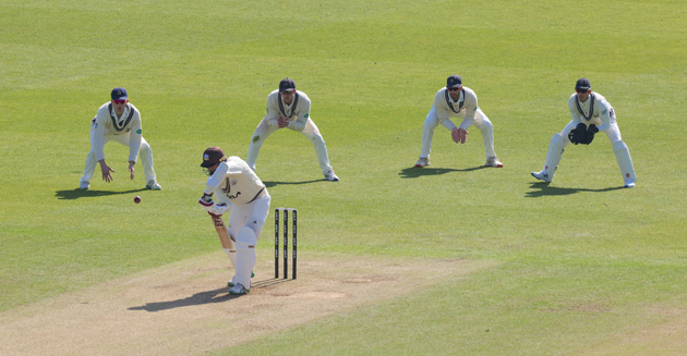
<path id="1" fill-rule="evenodd" d="M 132 103 L 128 103 L 124 113 L 117 116 L 111 102 L 104 103 L 91 120 L 92 146 L 95 150 L 96 160 L 105 159 L 105 137 L 123 135 L 129 136 L 129 160 L 136 161 L 141 149 L 141 112 Z"/>

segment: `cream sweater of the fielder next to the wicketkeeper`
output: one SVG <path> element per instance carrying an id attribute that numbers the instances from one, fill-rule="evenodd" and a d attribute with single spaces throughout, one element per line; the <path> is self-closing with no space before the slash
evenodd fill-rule
<path id="1" fill-rule="evenodd" d="M 458 101 L 454 101 L 448 94 L 448 89 L 443 87 L 434 96 L 434 109 L 439 123 L 446 128 L 453 130 L 456 127 L 449 118 L 460 118 L 462 119 L 460 128 L 468 130 L 474 122 L 474 115 L 479 109 L 477 95 L 472 89 L 463 86 L 462 90 L 460 90 L 460 98 L 458 98 Z"/>

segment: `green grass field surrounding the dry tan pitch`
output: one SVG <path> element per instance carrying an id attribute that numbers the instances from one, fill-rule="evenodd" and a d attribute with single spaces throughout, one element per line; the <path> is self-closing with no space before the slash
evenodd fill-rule
<path id="1" fill-rule="evenodd" d="M 201 154 L 245 158 L 285 76 L 313 100 L 341 177 L 312 182 L 322 175 L 301 135 L 263 146 L 258 174 L 274 207 L 299 208 L 301 248 L 502 263 L 226 353 L 579 354 L 662 322 L 642 310 L 684 308 L 684 1 L 0 7 L 0 311 L 216 250 L 195 204 Z M 504 169 L 477 169 L 474 127 L 463 146 L 438 127 L 432 169 L 411 169 L 455 73 L 494 123 Z M 566 149 L 553 184 L 529 175 L 581 76 L 616 110 L 634 189 L 618 188 L 603 135 Z M 161 192 L 138 191 L 140 165 L 128 181 L 116 144 L 116 181 L 75 191 L 88 121 L 116 86 L 142 112 Z"/>

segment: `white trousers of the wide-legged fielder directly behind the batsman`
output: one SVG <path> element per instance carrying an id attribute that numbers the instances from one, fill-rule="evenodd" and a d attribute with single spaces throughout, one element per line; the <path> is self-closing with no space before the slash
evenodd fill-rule
<path id="1" fill-rule="evenodd" d="M 270 127 L 267 123 L 267 120 L 263 119 L 255 128 L 255 133 L 253 133 L 253 137 L 251 138 L 251 145 L 249 146 L 249 154 L 245 162 L 250 168 L 255 170 L 255 162 L 257 161 L 257 154 L 260 154 L 260 148 L 263 146 L 263 143 L 272 133 L 279 130 L 279 127 Z M 288 128 L 286 128 L 288 130 Z M 305 128 L 301 131 L 303 136 L 308 137 L 308 139 L 313 143 L 315 147 L 315 152 L 317 154 L 317 161 L 320 162 L 320 168 L 322 169 L 322 173 L 327 173 L 332 170 L 332 165 L 329 165 L 329 156 L 327 155 L 327 146 L 320 134 L 320 130 L 315 125 L 315 123 L 308 119 L 308 123 L 305 124 Z"/>

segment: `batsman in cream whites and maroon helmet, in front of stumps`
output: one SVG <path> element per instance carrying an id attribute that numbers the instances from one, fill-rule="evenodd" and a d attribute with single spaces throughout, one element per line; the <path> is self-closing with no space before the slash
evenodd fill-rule
<path id="1" fill-rule="evenodd" d="M 265 225 L 272 198 L 245 161 L 236 156 L 225 157 L 219 147 L 210 147 L 203 152 L 201 167 L 209 179 L 198 204 L 214 218 L 231 210 L 227 228 L 229 240 L 222 241 L 222 248 L 236 270 L 236 275 L 228 283 L 231 286 L 229 293 L 249 293 L 257 258 L 255 245 Z"/>

